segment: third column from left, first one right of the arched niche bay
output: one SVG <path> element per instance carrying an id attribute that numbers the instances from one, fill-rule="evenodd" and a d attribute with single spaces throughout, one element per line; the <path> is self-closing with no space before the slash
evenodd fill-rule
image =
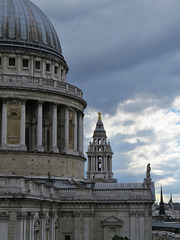
<path id="1" fill-rule="evenodd" d="M 36 150 L 38 152 L 44 152 L 44 147 L 42 146 L 42 102 L 38 103 L 38 120 L 37 120 L 37 146 Z"/>

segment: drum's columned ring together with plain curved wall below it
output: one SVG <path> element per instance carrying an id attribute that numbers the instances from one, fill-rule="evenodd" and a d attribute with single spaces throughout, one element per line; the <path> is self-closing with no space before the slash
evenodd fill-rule
<path id="1" fill-rule="evenodd" d="M 11 166 L 13 156 L 16 155 L 16 164 L 19 166 L 16 174 L 31 175 L 27 160 L 34 155 L 32 159 L 36 159 L 37 167 L 33 170 L 34 176 L 47 177 L 48 171 L 51 176 L 62 177 L 63 174 L 64 177 L 82 178 L 85 161 L 82 124 L 83 112 L 63 103 L 24 100 L 18 97 L 1 99 L 0 155 L 4 157 L 0 157 L 0 164 L 4 167 L 0 169 L 0 174 L 7 170 L 6 164 Z M 4 151 L 8 151 L 8 154 L 4 154 Z M 55 166 L 59 166 L 60 159 L 63 159 L 59 170 L 58 167 L 46 168 L 45 162 L 49 159 L 53 159 Z M 72 159 L 76 159 L 76 164 Z M 42 169 L 43 161 L 46 174 L 45 170 L 38 170 Z M 66 161 L 68 162 L 65 164 Z M 81 170 L 77 170 L 77 166 Z M 67 174 L 62 173 L 61 168 Z M 13 167 L 9 169 L 7 174 L 11 174 Z"/>

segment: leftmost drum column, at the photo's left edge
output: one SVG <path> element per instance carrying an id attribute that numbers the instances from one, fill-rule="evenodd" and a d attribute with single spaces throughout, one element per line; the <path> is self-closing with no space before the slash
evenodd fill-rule
<path id="1" fill-rule="evenodd" d="M 2 130 L 1 130 L 1 149 L 7 145 L 7 100 L 3 99 L 2 105 Z"/>

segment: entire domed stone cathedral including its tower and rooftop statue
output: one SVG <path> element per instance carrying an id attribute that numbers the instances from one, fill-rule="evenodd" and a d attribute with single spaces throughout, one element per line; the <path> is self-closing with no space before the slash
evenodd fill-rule
<path id="1" fill-rule="evenodd" d="M 84 178 L 86 102 L 67 72 L 44 13 L 0 0 L 0 239 L 151 240 L 150 164 L 142 183 L 117 183 L 99 114 Z"/>

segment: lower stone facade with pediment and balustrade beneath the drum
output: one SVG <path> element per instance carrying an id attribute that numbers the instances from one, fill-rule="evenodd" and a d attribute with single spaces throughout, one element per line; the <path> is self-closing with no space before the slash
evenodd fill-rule
<path id="1" fill-rule="evenodd" d="M 0 186 L 3 240 L 152 239 L 153 200 L 141 183 L 1 177 Z"/>

